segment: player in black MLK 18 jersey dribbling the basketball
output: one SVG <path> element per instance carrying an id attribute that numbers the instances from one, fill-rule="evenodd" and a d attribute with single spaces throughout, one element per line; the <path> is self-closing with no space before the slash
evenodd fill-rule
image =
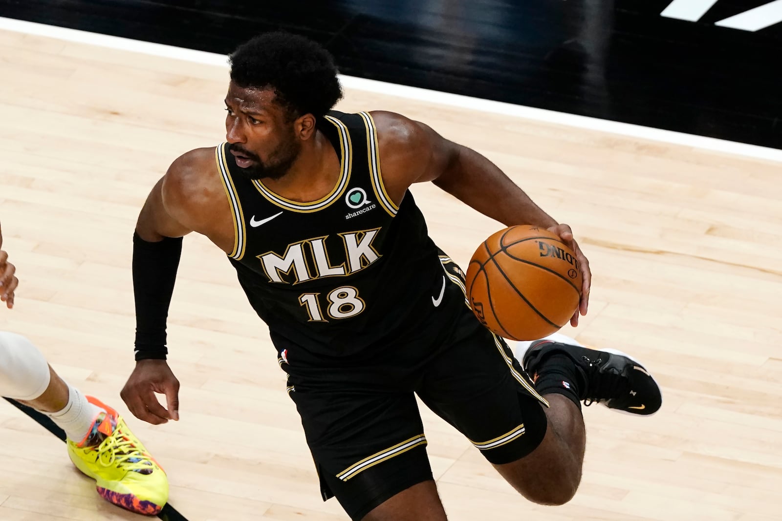
<path id="1" fill-rule="evenodd" d="M 176 159 L 138 217 L 125 403 L 149 423 L 178 419 L 165 329 L 181 237 L 195 231 L 228 255 L 269 327 L 324 499 L 352 519 L 446 519 L 418 394 L 520 494 L 569 501 L 584 454 L 580 401 L 649 414 L 657 384 L 626 356 L 551 341 L 532 344 L 522 369 L 468 308 L 461 269 L 429 238 L 408 188 L 432 181 L 505 225 L 554 230 L 583 268 L 584 314 L 590 271 L 570 227 L 424 123 L 331 111 L 341 95 L 332 57 L 303 37 L 263 34 L 231 55 L 228 142 Z"/>

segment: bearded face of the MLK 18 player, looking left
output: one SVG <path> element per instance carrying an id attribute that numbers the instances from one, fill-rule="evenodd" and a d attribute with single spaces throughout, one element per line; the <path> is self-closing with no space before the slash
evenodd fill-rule
<path id="1" fill-rule="evenodd" d="M 228 149 L 250 179 L 279 179 L 299 155 L 294 121 L 274 101 L 271 89 L 242 88 L 233 82 L 225 98 Z"/>

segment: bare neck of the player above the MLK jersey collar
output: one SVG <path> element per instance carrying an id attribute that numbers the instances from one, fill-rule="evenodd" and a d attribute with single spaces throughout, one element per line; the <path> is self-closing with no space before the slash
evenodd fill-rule
<path id="1" fill-rule="evenodd" d="M 275 194 L 296 202 L 312 202 L 331 193 L 339 182 L 339 156 L 328 137 L 317 131 L 305 141 L 285 176 L 262 180 Z"/>

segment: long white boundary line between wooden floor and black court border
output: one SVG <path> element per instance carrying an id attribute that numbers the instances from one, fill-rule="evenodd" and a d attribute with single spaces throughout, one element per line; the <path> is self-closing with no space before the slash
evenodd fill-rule
<path id="1" fill-rule="evenodd" d="M 228 57 L 213 52 L 195 51 L 187 48 L 174 47 L 172 45 L 153 44 L 148 41 L 131 40 L 106 34 L 90 33 L 83 30 L 66 29 L 43 23 L 32 23 L 23 20 L 0 17 L 0 30 L 11 30 L 17 33 L 34 34 L 37 36 L 57 38 L 59 40 L 73 41 L 88 45 L 114 48 L 122 51 L 139 52 L 147 55 L 162 56 L 165 58 L 181 59 L 188 62 L 203 63 L 212 66 L 228 66 Z M 432 102 L 439 105 L 450 105 L 462 109 L 493 112 L 505 116 L 515 116 L 528 120 L 542 121 L 544 123 L 556 123 L 568 127 L 598 130 L 609 134 L 621 134 L 623 136 L 640 137 L 651 141 L 662 141 L 673 145 L 682 145 L 693 148 L 701 148 L 715 152 L 744 155 L 756 159 L 768 159 L 782 162 L 782 150 L 776 148 L 747 145 L 736 141 L 726 141 L 716 137 L 704 137 L 673 130 L 661 130 L 651 127 L 643 127 L 632 123 L 619 123 L 617 121 L 601 120 L 589 116 L 577 116 L 565 112 L 553 110 L 535 109 L 523 105 L 511 103 L 493 102 L 486 99 L 471 98 L 470 96 L 448 94 L 439 91 L 406 85 L 389 84 L 377 80 L 367 80 L 352 76 L 339 76 L 343 87 L 361 91 L 375 92 L 378 94 L 392 95 L 399 98 L 409 98 L 421 102 Z"/>

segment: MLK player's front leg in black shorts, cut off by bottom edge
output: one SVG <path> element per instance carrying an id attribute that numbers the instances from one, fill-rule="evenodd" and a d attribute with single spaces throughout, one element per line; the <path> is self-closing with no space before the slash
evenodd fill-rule
<path id="1" fill-rule="evenodd" d="M 354 521 L 446 519 L 411 391 L 305 382 L 291 376 L 289 393 L 324 501 L 336 497 Z"/>

